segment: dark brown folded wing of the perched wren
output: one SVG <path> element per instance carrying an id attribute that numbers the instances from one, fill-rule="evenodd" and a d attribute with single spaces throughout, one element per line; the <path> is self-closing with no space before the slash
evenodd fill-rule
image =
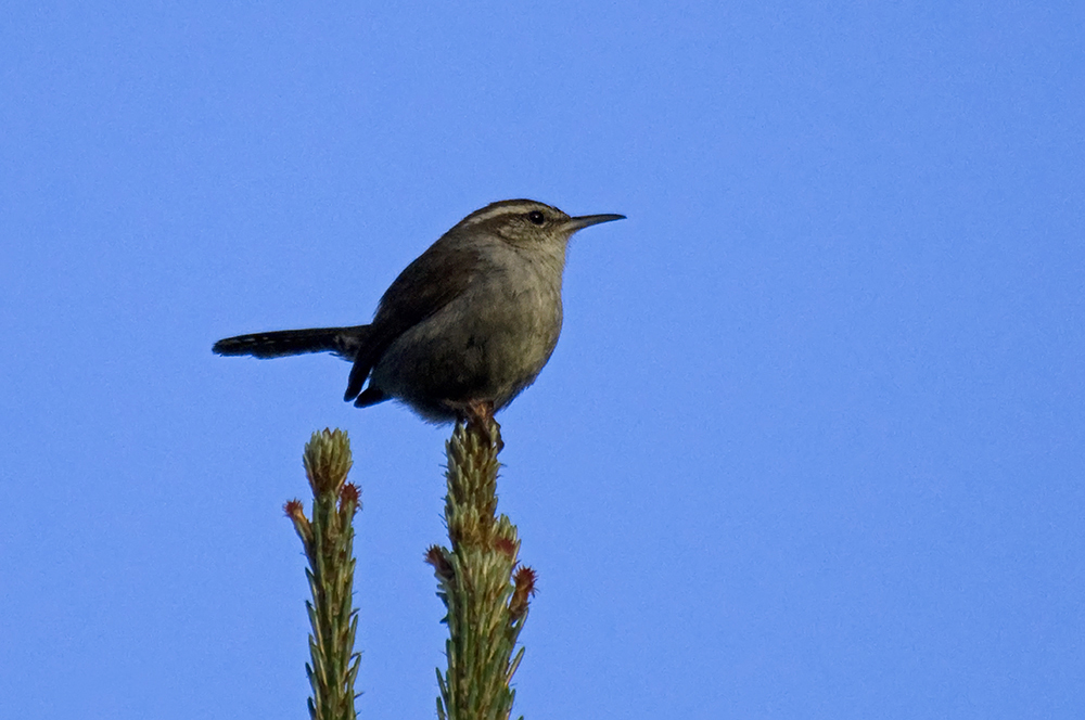
<path id="1" fill-rule="evenodd" d="M 344 400 L 361 393 L 366 378 L 388 346 L 405 332 L 459 297 L 480 271 L 478 253 L 443 236 L 399 273 L 385 291 L 354 360 Z"/>

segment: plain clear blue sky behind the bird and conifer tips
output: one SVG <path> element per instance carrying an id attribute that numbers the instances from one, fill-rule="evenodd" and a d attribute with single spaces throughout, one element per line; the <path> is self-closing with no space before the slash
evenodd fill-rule
<path id="1" fill-rule="evenodd" d="M 434 715 L 443 441 L 331 357 L 462 216 L 574 239 L 501 416 L 516 710 L 1085 712 L 1081 3 L 15 2 L 0 24 L 0 697 L 298 718 L 283 501 L 361 487 L 360 717 Z"/>

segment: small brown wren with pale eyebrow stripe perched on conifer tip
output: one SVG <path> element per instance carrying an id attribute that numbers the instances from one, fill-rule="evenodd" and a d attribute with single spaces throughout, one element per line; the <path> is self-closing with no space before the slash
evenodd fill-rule
<path id="1" fill-rule="evenodd" d="M 257 358 L 334 352 L 354 362 L 344 399 L 359 408 L 395 398 L 431 422 L 496 412 L 535 382 L 558 343 L 569 239 L 624 217 L 494 203 L 407 266 L 372 323 L 240 335 L 213 349 Z"/>

